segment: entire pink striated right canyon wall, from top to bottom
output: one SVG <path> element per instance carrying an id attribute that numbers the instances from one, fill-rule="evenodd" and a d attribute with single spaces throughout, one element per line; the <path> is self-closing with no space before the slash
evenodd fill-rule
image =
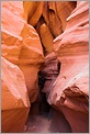
<path id="1" fill-rule="evenodd" d="M 63 111 L 74 133 L 89 132 L 89 3 L 81 1 L 54 41 L 61 63 L 48 102 Z"/>

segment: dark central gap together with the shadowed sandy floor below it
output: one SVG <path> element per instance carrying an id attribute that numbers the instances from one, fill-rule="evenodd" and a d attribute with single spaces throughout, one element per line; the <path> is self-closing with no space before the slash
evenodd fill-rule
<path id="1" fill-rule="evenodd" d="M 58 70 L 60 65 L 58 65 Z M 37 100 L 31 104 L 26 132 L 31 133 L 71 133 L 64 114 L 48 104 L 46 93 L 42 92 L 46 81 L 45 74 L 38 72 L 40 92 Z"/>

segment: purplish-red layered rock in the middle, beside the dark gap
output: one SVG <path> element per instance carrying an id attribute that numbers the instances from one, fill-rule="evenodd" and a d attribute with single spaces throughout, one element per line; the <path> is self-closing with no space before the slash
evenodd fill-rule
<path id="1" fill-rule="evenodd" d="M 46 79 L 42 91 L 45 92 L 47 97 L 49 92 L 52 92 L 52 85 L 54 83 L 59 74 L 57 66 L 58 66 L 58 59 L 55 53 L 53 52 L 45 57 L 45 64 L 42 69 L 42 72 L 45 74 L 44 77 Z"/>

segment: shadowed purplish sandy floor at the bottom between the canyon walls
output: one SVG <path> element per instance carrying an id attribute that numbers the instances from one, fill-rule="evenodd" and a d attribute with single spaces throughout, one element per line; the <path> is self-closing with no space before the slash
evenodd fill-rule
<path id="1" fill-rule="evenodd" d="M 34 105 L 35 107 L 35 105 Z M 36 110 L 36 108 L 32 108 Z M 43 109 L 44 110 L 44 109 Z M 31 110 L 32 111 L 32 110 Z M 30 112 L 25 132 L 32 133 L 71 133 L 69 123 L 66 121 L 64 114 L 54 108 L 47 113 L 37 114 Z"/>

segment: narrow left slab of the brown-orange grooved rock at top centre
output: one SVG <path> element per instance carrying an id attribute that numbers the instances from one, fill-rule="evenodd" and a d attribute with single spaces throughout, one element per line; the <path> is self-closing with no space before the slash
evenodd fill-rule
<path id="1" fill-rule="evenodd" d="M 63 32 L 61 23 L 56 14 L 55 2 L 44 2 L 43 18 L 54 37 Z"/>

